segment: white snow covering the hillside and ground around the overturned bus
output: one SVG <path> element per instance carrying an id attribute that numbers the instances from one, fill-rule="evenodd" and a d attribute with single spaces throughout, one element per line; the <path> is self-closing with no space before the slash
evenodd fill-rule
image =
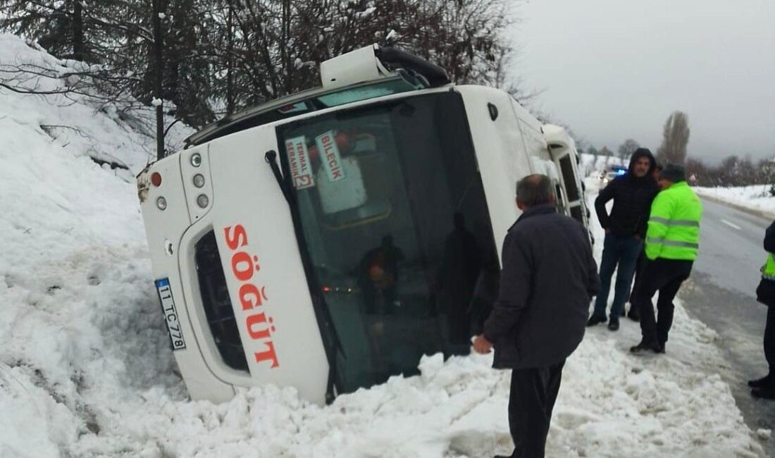
<path id="1" fill-rule="evenodd" d="M 0 35 L 0 61 L 12 60 L 56 64 Z M 153 139 L 109 109 L 0 91 L 0 145 L 3 458 L 511 451 L 509 374 L 491 370 L 491 356 L 427 356 L 422 375 L 327 407 L 277 387 L 222 405 L 190 401 L 160 317 L 131 174 L 89 158 L 99 150 L 136 173 Z M 629 356 L 633 323 L 587 332 L 566 365 L 549 456 L 762 454 L 729 387 L 705 369 L 720 360 L 714 332 L 680 306 L 675 322 L 666 356 Z"/>

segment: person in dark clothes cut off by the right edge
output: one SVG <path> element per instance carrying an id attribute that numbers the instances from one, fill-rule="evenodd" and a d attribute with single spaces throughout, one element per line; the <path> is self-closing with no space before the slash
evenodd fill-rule
<path id="1" fill-rule="evenodd" d="M 764 250 L 767 263 L 762 267 L 762 280 L 756 288 L 756 300 L 767 306 L 767 321 L 764 325 L 764 357 L 770 370 L 766 376 L 748 382 L 754 398 L 775 399 L 775 222 L 764 235 Z"/>

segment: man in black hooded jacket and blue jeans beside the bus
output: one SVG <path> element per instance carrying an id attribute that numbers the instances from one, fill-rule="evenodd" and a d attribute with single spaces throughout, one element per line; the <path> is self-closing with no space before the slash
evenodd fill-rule
<path id="1" fill-rule="evenodd" d="M 600 263 L 600 293 L 587 325 L 606 321 L 605 309 L 608 305 L 608 291 L 611 290 L 611 276 L 618 266 L 608 329 L 619 329 L 619 316 L 624 315 L 632 275 L 635 274 L 643 237 L 646 236 L 651 202 L 660 191 L 651 176 L 655 165 L 656 160 L 651 151 L 638 148 L 630 158 L 629 172 L 611 181 L 594 201 L 598 220 L 605 229 L 605 242 Z M 614 208 L 611 209 L 611 215 L 608 215 L 605 204 L 611 199 Z"/>

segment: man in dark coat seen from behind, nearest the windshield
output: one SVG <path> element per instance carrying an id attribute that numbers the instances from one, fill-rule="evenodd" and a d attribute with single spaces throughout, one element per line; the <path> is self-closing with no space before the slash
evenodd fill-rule
<path id="1" fill-rule="evenodd" d="M 519 181 L 517 206 L 523 213 L 503 243 L 498 299 L 474 350 L 494 346 L 493 367 L 512 369 L 512 457 L 532 458 L 544 454 L 563 364 L 584 337 L 598 267 L 584 227 L 556 213 L 549 177 Z"/>

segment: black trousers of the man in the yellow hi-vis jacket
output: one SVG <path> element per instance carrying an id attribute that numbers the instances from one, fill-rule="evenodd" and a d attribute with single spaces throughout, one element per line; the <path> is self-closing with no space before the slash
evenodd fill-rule
<path id="1" fill-rule="evenodd" d="M 645 342 L 657 342 L 664 345 L 667 334 L 673 325 L 673 299 L 680 285 L 691 274 L 694 264 L 690 260 L 668 260 L 657 258 L 648 260 L 643 266 L 641 284 L 639 284 L 632 305 L 640 312 L 640 330 Z M 658 317 L 654 316 L 652 298 L 660 291 L 656 301 Z"/>

